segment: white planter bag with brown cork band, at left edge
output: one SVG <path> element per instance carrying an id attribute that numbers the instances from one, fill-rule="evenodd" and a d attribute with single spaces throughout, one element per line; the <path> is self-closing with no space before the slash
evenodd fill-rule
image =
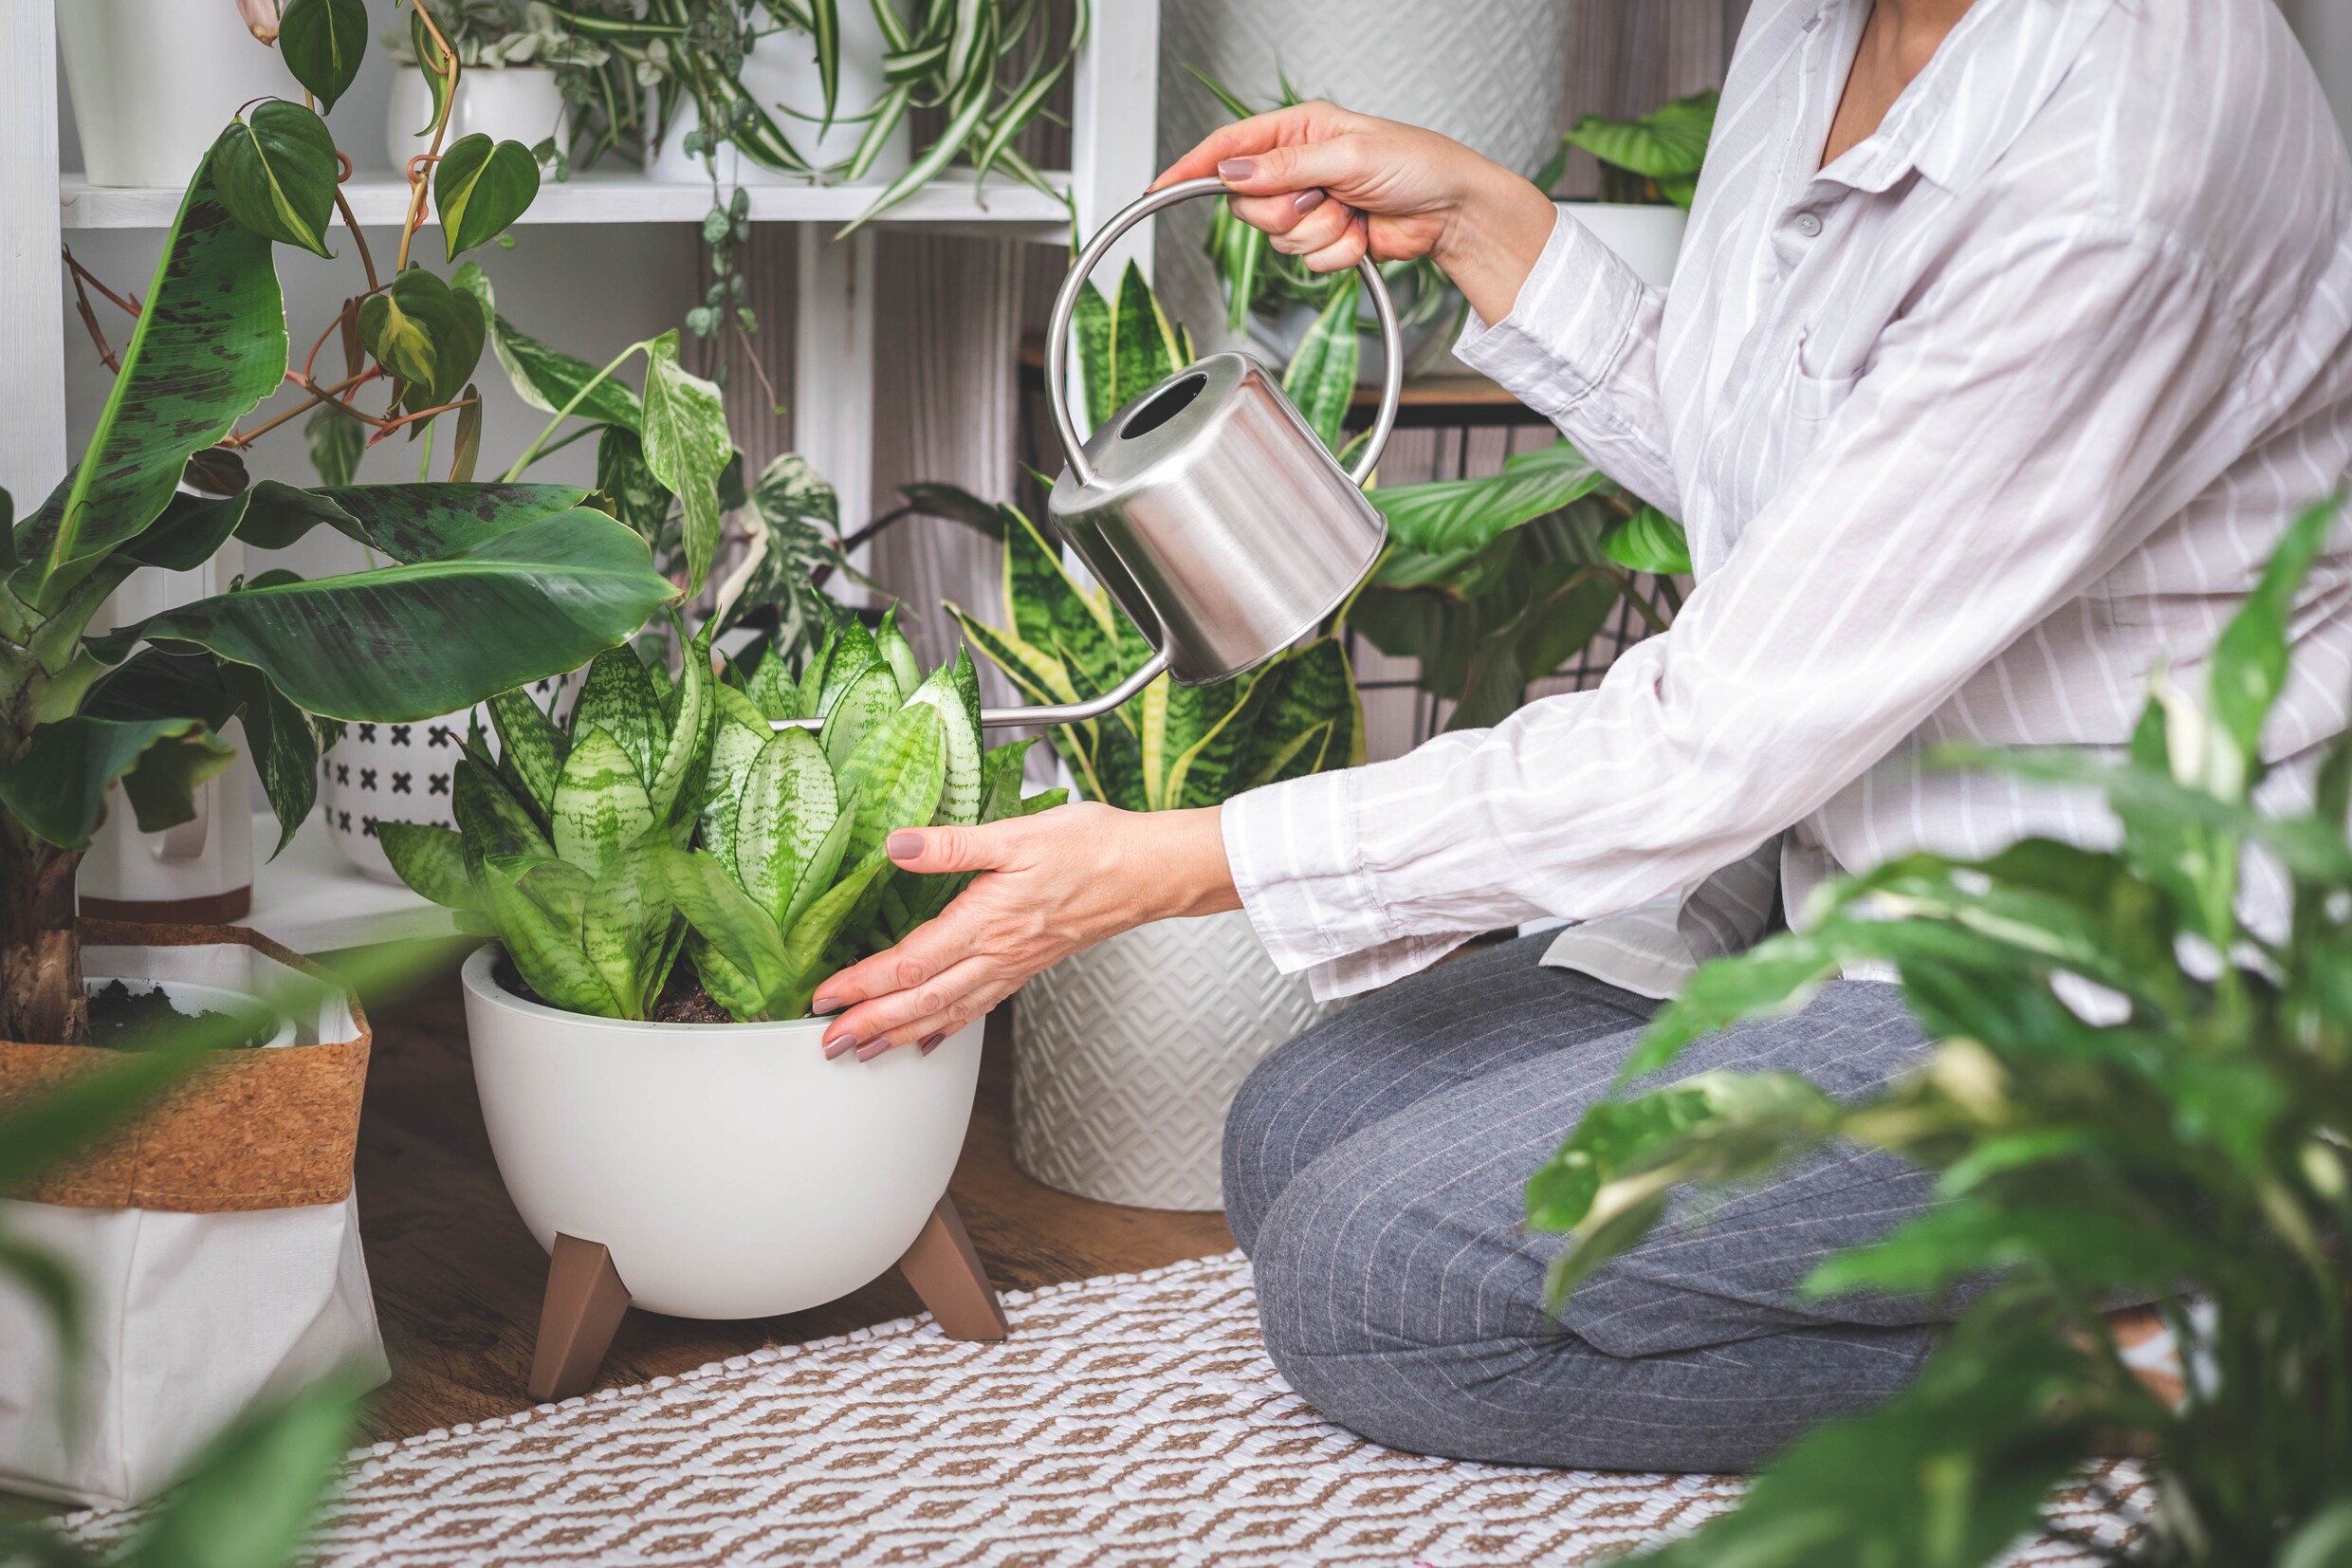
<path id="1" fill-rule="evenodd" d="M 82 969 L 160 983 L 183 1006 L 301 997 L 273 1044 L 221 1051 L 0 1199 L 0 1227 L 80 1279 L 87 1338 L 68 1427 L 56 1335 L 0 1286 L 0 1490 L 127 1505 L 254 1401 L 329 1371 L 388 1375 L 350 1185 L 369 1030 L 358 997 L 315 985 L 322 969 L 233 926 L 82 922 Z M 0 1107 L 108 1058 L 0 1041 Z"/>

